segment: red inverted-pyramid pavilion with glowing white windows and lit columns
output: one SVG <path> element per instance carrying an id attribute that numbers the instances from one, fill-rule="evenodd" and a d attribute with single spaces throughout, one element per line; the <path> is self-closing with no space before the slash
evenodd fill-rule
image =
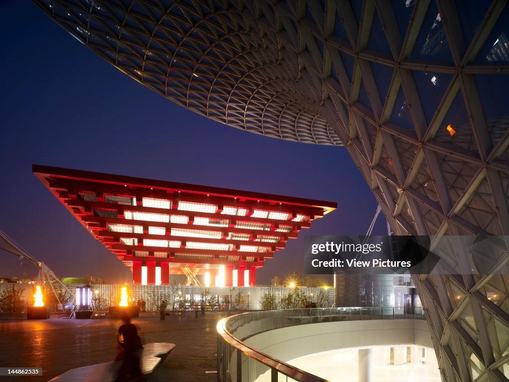
<path id="1" fill-rule="evenodd" d="M 336 203 L 34 165 L 39 180 L 131 268 L 135 284 L 247 286 Z M 204 275 L 200 282 L 197 275 Z"/>

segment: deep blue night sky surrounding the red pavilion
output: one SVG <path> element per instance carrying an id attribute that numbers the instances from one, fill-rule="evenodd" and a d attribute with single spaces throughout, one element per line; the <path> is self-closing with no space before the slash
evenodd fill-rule
<path id="1" fill-rule="evenodd" d="M 0 2 L 0 229 L 57 276 L 132 280 L 37 180 L 32 164 L 335 201 L 257 272 L 303 271 L 304 236 L 365 234 L 376 200 L 346 150 L 246 133 L 153 93 L 28 2 Z M 381 217 L 374 234 L 386 232 Z M 0 277 L 20 277 L 0 250 Z"/>

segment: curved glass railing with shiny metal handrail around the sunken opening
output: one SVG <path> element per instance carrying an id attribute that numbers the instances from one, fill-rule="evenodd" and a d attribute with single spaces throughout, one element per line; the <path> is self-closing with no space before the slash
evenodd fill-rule
<path id="1" fill-rule="evenodd" d="M 408 311 L 408 310 L 406 310 Z M 217 324 L 218 382 L 254 382 L 270 371 L 271 382 L 295 380 L 326 382 L 247 345 L 249 337 L 270 330 L 334 321 L 425 319 L 422 308 L 405 313 L 400 308 L 316 308 L 256 311 L 223 318 Z"/>

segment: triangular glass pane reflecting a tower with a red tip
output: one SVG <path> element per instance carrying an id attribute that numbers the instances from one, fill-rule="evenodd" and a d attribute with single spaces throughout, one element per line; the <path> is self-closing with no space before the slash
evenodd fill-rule
<path id="1" fill-rule="evenodd" d="M 435 2 L 430 3 L 410 57 L 413 60 L 453 62 L 442 18 Z"/>

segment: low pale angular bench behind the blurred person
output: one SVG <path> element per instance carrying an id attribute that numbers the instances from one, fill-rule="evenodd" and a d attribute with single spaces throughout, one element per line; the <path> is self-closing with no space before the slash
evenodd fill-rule
<path id="1" fill-rule="evenodd" d="M 142 352 L 142 373 L 150 374 L 175 347 L 174 343 L 154 342 L 144 345 Z M 110 361 L 97 365 L 71 369 L 49 382 L 107 382 L 117 376 L 122 361 Z"/>

